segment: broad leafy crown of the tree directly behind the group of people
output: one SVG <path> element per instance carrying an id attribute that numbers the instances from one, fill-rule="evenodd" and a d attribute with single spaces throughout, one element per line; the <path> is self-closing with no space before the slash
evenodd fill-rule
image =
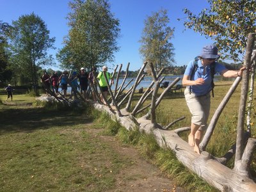
<path id="1" fill-rule="evenodd" d="M 116 39 L 120 29 L 108 1 L 75 0 L 69 5 L 73 11 L 68 14 L 70 31 L 64 40 L 65 47 L 57 54 L 61 66 L 89 70 L 113 61 L 113 54 L 119 49 Z"/>

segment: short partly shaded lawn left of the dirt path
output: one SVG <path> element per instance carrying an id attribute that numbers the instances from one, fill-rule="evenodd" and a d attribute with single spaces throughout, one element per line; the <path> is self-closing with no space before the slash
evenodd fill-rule
<path id="1" fill-rule="evenodd" d="M 0 106 L 0 191 L 106 191 L 115 186 L 116 173 L 130 160 L 92 134 L 100 124 L 88 116 L 91 109 L 42 108 L 33 106 L 31 97 L 15 99 Z"/>

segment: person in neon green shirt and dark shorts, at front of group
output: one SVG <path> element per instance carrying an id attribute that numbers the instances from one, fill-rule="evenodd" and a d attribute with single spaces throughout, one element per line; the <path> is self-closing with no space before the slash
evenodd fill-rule
<path id="1" fill-rule="evenodd" d="M 108 67 L 103 66 L 102 67 L 102 72 L 99 72 L 99 74 L 97 76 L 97 79 L 99 80 L 100 88 L 101 88 L 101 90 L 103 92 L 104 97 L 107 98 L 108 97 L 108 84 L 106 82 L 106 79 L 104 77 L 103 72 L 106 72 L 106 76 L 107 76 L 108 81 L 109 81 L 109 79 L 111 79 L 111 84 L 114 83 L 114 80 L 112 79 L 111 74 L 108 72 Z M 100 99 L 106 105 L 106 102 L 103 99 L 102 95 L 100 95 Z"/>

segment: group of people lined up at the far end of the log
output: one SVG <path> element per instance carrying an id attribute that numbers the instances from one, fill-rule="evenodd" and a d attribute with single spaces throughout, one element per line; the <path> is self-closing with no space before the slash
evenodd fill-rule
<path id="1" fill-rule="evenodd" d="M 111 83 L 113 84 L 113 79 L 111 74 L 108 72 L 108 67 L 103 66 L 102 72 L 99 72 L 97 74 L 97 68 L 93 67 L 90 73 L 88 74 L 84 67 L 80 68 L 80 72 L 72 72 L 72 75 L 68 77 L 67 70 L 64 70 L 60 77 L 58 77 L 57 72 L 54 72 L 52 76 L 49 76 L 46 71 L 44 71 L 44 75 L 41 77 L 41 82 L 43 83 L 44 89 L 47 91 L 47 89 L 51 89 L 52 91 L 58 95 L 60 92 L 58 92 L 59 85 L 61 86 L 61 92 L 63 92 L 63 97 L 67 97 L 67 88 L 68 84 L 71 85 L 71 94 L 70 98 L 74 95 L 74 99 L 77 99 L 77 89 L 81 91 L 81 94 L 83 95 L 84 99 L 87 99 L 86 92 L 88 90 L 88 83 L 92 83 L 93 86 L 97 89 L 97 84 L 95 81 L 95 77 L 93 74 L 97 75 L 97 79 L 99 81 L 99 86 L 102 90 L 103 95 L 100 95 L 100 100 L 106 104 L 104 97 L 106 98 L 108 96 L 108 84 L 106 82 L 106 79 L 104 77 L 104 72 L 106 72 L 106 76 L 108 78 L 108 81 L 111 79 Z M 78 84 L 79 81 L 79 84 Z M 92 97 L 93 100 L 97 100 L 95 92 L 92 91 Z"/>

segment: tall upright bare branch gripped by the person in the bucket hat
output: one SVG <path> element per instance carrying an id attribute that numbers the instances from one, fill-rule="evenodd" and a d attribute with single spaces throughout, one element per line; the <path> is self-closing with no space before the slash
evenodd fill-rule
<path id="1" fill-rule="evenodd" d="M 253 46 L 255 42 L 255 34 L 250 33 L 248 35 L 248 42 L 246 46 L 246 56 L 244 58 L 244 66 L 246 68 L 251 67 L 251 56 L 253 51 Z M 244 113 L 246 108 L 246 100 L 248 94 L 248 84 L 249 84 L 249 70 L 243 71 L 243 80 L 241 86 L 241 97 L 239 102 L 238 120 L 237 120 L 237 137 L 236 137 L 236 163 L 241 160 L 242 157 L 242 143 L 243 143 L 243 130 L 244 130 Z"/>

